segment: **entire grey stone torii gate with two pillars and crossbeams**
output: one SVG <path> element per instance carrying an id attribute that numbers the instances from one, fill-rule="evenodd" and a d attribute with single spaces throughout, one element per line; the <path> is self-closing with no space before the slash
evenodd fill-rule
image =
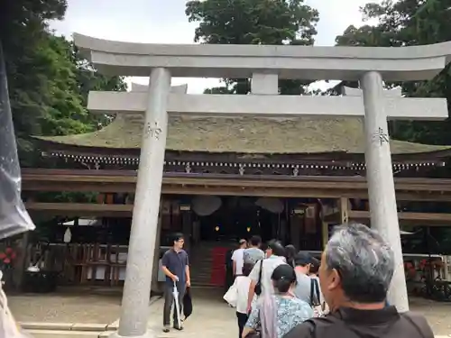
<path id="1" fill-rule="evenodd" d="M 105 41 L 79 34 L 75 34 L 74 40 L 102 73 L 150 77 L 147 93 L 91 92 L 88 99 L 88 108 L 95 112 L 144 113 L 122 313 L 116 335 L 153 336 L 147 331 L 148 298 L 168 113 L 364 117 L 371 223 L 387 238 L 395 253 L 390 302 L 401 312 L 409 309 L 387 119 L 445 119 L 446 99 L 384 95 L 382 79 L 410 81 L 435 77 L 451 60 L 451 42 L 365 48 L 143 44 Z M 171 77 L 252 78 L 252 95 L 170 93 Z M 358 80 L 363 95 L 351 90 L 343 97 L 279 96 L 280 78 Z"/>

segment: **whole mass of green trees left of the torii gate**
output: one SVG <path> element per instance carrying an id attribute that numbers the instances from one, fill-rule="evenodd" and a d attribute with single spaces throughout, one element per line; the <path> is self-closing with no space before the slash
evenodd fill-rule
<path id="1" fill-rule="evenodd" d="M 49 31 L 48 21 L 62 19 L 66 0 L 0 2 L 0 41 L 14 127 L 22 164 L 36 164 L 33 135 L 91 132 L 107 123 L 88 114 L 91 89 L 123 90 L 122 78 L 106 78 L 92 69 L 70 41 Z"/>

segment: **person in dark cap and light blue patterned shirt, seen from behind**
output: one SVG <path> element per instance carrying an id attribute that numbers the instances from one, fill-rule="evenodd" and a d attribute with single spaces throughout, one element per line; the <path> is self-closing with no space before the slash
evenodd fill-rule
<path id="1" fill-rule="evenodd" d="M 313 315 L 311 306 L 293 294 L 296 274 L 289 264 L 275 268 L 271 282 L 274 293 L 264 294 L 262 301 L 253 308 L 244 326 L 243 338 L 259 329 L 263 338 L 281 338 Z"/>

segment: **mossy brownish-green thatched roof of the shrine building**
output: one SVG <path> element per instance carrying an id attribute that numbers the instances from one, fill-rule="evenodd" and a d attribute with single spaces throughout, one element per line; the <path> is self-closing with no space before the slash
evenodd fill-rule
<path id="1" fill-rule="evenodd" d="M 40 137 L 59 145 L 137 150 L 143 131 L 141 115 L 118 115 L 102 130 L 86 134 Z M 235 152 L 261 154 L 301 154 L 346 152 L 364 153 L 362 119 L 270 119 L 256 117 L 170 116 L 168 151 Z M 444 151 L 436 146 L 391 140 L 393 154 Z"/>

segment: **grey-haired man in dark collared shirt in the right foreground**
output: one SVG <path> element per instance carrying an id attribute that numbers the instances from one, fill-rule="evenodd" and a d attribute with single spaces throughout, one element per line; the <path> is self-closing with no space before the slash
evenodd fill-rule
<path id="1" fill-rule="evenodd" d="M 338 226 L 321 257 L 319 280 L 330 314 L 299 324 L 284 338 L 433 338 L 421 315 L 386 305 L 393 251 L 364 224 Z"/>

